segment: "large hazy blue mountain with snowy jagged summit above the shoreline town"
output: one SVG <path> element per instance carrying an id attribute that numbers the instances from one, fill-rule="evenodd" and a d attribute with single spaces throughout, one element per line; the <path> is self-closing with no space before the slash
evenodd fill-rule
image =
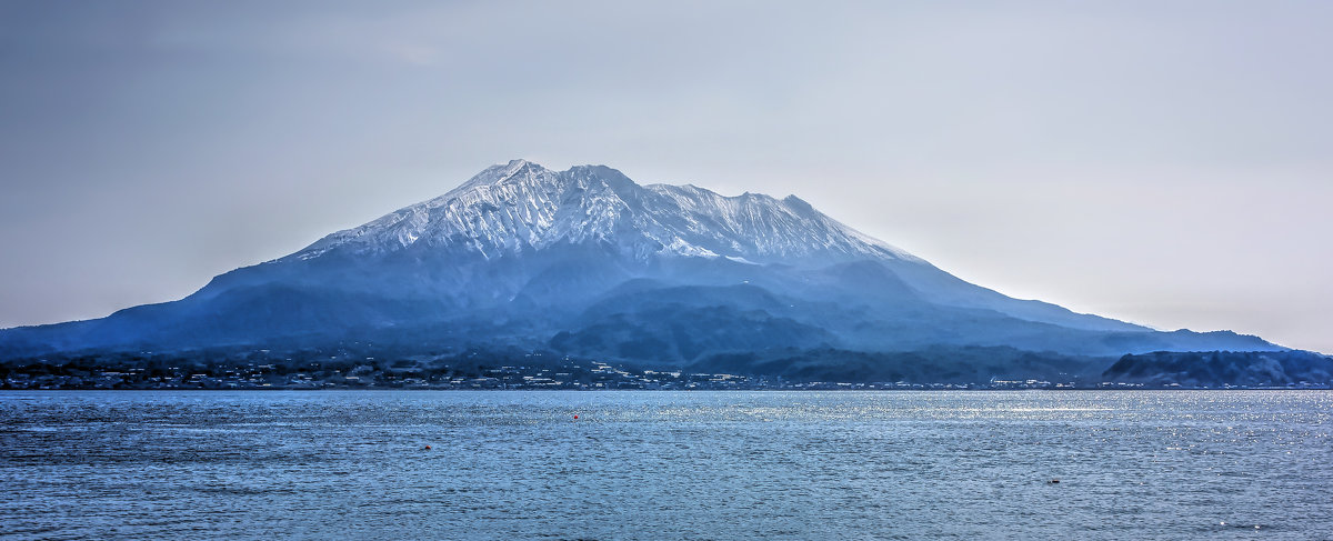
<path id="1" fill-rule="evenodd" d="M 1097 357 L 1284 349 L 1232 332 L 1158 332 L 1014 300 L 796 196 L 724 197 L 693 185 L 639 185 L 601 165 L 556 172 L 515 160 L 287 257 L 217 276 L 183 300 L 3 330 L 0 356 L 349 338 L 672 366 L 932 348 Z"/>

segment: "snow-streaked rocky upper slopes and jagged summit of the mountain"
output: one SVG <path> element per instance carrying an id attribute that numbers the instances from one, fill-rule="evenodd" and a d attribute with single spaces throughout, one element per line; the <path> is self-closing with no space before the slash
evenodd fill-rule
<path id="1" fill-rule="evenodd" d="M 697 256 L 788 264 L 856 259 L 921 263 L 794 196 L 724 197 L 692 185 L 640 187 L 607 167 L 553 172 L 525 160 L 491 167 L 444 196 L 329 235 L 289 257 L 429 247 L 492 259 L 589 240 L 616 245 L 639 260 Z"/>

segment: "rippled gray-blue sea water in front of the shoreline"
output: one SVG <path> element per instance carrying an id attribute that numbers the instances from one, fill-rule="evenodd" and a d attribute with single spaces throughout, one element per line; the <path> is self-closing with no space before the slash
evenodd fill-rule
<path id="1" fill-rule="evenodd" d="M 1320 540 L 1330 412 L 1258 390 L 5 392 L 0 537 Z"/>

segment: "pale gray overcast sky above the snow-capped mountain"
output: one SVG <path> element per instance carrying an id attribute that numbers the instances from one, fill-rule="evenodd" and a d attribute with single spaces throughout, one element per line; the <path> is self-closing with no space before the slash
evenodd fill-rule
<path id="1" fill-rule="evenodd" d="M 1333 352 L 1333 3 L 0 0 L 0 326 L 515 157 L 796 193 L 954 274 Z"/>

